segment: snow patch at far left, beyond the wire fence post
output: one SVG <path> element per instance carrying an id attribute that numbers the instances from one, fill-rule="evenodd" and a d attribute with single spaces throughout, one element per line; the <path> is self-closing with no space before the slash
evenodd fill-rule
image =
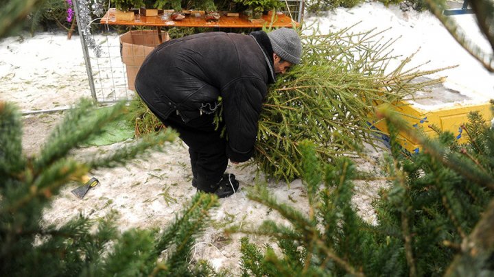
<path id="1" fill-rule="evenodd" d="M 79 97 L 91 97 L 75 36 L 42 33 L 14 36 L 0 42 L 0 99 L 19 104 L 22 110 L 69 106 Z"/>

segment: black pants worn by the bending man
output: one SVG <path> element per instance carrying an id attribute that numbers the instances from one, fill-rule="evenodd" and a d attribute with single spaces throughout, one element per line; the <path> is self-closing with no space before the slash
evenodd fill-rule
<path id="1" fill-rule="evenodd" d="M 199 111 L 198 111 L 199 112 Z M 180 139 L 189 146 L 193 178 L 197 188 L 213 192 L 213 186 L 221 180 L 228 165 L 226 139 L 220 136 L 223 126 L 215 130 L 214 114 L 202 114 L 185 123 L 179 115 L 172 113 L 163 121 L 174 128 Z"/>

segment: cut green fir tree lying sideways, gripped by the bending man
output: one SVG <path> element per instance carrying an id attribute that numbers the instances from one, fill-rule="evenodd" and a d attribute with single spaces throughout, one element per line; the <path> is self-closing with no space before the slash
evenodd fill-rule
<path id="1" fill-rule="evenodd" d="M 302 64 L 270 86 L 253 159 L 269 176 L 286 181 L 300 176 L 298 143 L 304 139 L 329 161 L 359 152 L 364 142 L 373 145 L 379 131 L 369 123 L 375 121 L 377 104 L 413 97 L 441 82 L 423 76 L 443 69 L 407 69 L 413 56 L 388 69 L 399 58 L 392 56 L 394 40 L 384 40 L 383 32 L 351 33 L 351 28 L 327 35 L 307 29 L 312 34 L 301 36 Z"/>

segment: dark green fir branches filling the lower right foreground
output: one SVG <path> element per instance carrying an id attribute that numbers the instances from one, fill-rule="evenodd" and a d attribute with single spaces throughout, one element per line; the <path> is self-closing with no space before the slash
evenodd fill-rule
<path id="1" fill-rule="evenodd" d="M 486 128 L 478 113 L 464 127 L 469 145 L 458 145 L 448 132 L 430 139 L 410 130 L 424 151 L 403 156 L 397 134 L 408 124 L 389 108 L 379 115 L 388 121 L 391 153 L 383 167 L 390 187 L 374 202 L 378 224 L 366 224 L 353 210 L 356 171 L 351 160 L 320 162 L 317 145 L 301 143 L 309 214 L 278 202 L 266 187 L 252 189 L 251 200 L 276 210 L 289 223 L 265 221 L 254 228 L 226 230 L 274 237 L 281 250 L 259 248 L 244 238 L 244 276 L 494 274 L 494 189 L 486 182 L 494 180 L 494 130 Z"/>

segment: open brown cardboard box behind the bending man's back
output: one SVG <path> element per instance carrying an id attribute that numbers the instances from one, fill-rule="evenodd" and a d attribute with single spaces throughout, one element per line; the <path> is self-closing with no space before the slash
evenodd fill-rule
<path id="1" fill-rule="evenodd" d="M 135 91 L 134 82 L 146 56 L 154 47 L 169 40 L 167 32 L 157 30 L 129 31 L 120 36 L 121 58 L 126 64 L 128 88 Z"/>

